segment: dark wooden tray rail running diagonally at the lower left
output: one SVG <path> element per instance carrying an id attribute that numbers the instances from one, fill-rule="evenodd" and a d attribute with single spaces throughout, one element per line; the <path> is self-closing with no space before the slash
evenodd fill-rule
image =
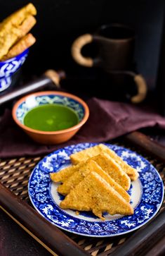
<path id="1" fill-rule="evenodd" d="M 74 243 L 68 236 L 53 226 L 49 221 L 46 221 L 41 214 L 36 212 L 26 202 L 11 193 L 10 190 L 0 183 L 0 202 L 1 207 L 6 210 L 12 217 L 22 224 L 22 227 L 27 228 L 27 231 L 32 232 L 34 236 L 39 238 L 53 252 L 58 255 L 88 255 L 84 252 L 77 243 Z"/>

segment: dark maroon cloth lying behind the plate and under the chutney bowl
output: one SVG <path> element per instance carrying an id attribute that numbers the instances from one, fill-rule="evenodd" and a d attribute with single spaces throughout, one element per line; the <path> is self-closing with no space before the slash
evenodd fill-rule
<path id="1" fill-rule="evenodd" d="M 39 145 L 33 142 L 13 121 L 6 110 L 0 121 L 0 157 L 34 156 L 53 152 L 79 142 L 106 142 L 139 128 L 157 126 L 165 129 L 165 118 L 145 106 L 110 102 L 92 98 L 87 102 L 90 116 L 70 141 L 60 145 Z"/>

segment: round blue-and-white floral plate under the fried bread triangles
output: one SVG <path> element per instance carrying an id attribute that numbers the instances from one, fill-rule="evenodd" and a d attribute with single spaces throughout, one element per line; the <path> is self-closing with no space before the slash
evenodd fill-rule
<path id="1" fill-rule="evenodd" d="M 37 211 L 52 224 L 82 236 L 119 236 L 140 228 L 158 212 L 164 197 L 164 185 L 157 170 L 146 159 L 117 145 L 106 144 L 119 157 L 136 168 L 139 172 L 137 181 L 131 183 L 128 193 L 134 214 L 121 216 L 104 214 L 105 221 L 98 219 L 91 212 L 64 210 L 59 207 L 62 195 L 57 192 L 59 184 L 51 182 L 49 173 L 60 171 L 70 165 L 70 154 L 79 152 L 95 143 L 72 145 L 57 150 L 44 157 L 34 168 L 29 178 L 29 197 Z"/>

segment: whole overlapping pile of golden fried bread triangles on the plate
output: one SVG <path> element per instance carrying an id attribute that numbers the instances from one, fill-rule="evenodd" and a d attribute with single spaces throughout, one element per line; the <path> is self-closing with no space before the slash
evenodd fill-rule
<path id="1" fill-rule="evenodd" d="M 51 173 L 53 181 L 62 181 L 58 192 L 66 195 L 60 202 L 60 207 L 92 211 L 102 220 L 105 220 L 103 212 L 112 215 L 133 214 L 129 203 L 131 197 L 126 193 L 131 179 L 121 169 L 122 159 L 121 164 L 115 161 L 118 158 L 115 152 L 111 154 L 105 145 L 97 145 L 72 154 L 71 158 L 75 160 L 74 163 L 79 164 L 69 166 L 58 173 Z"/>

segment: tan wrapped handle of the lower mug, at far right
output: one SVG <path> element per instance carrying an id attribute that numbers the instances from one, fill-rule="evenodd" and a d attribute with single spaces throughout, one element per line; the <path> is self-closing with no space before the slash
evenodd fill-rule
<path id="1" fill-rule="evenodd" d="M 142 102 L 147 95 L 147 84 L 145 82 L 145 78 L 142 75 L 135 75 L 134 81 L 138 88 L 138 94 L 131 97 L 132 103 Z"/>

